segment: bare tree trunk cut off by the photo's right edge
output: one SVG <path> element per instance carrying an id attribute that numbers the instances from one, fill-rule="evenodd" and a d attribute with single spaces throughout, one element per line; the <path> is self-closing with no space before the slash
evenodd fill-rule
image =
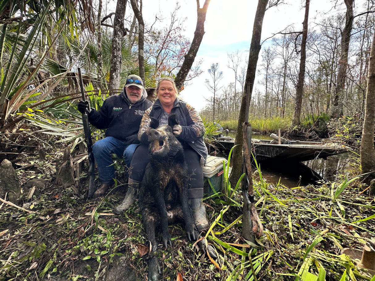
<path id="1" fill-rule="evenodd" d="M 363 122 L 361 141 L 362 172 L 371 172 L 366 178 L 370 182 L 375 178 L 375 149 L 374 149 L 374 122 L 375 122 L 375 32 L 371 44 L 369 75 L 367 79 L 365 120 Z M 372 194 L 374 195 L 374 194 Z"/>

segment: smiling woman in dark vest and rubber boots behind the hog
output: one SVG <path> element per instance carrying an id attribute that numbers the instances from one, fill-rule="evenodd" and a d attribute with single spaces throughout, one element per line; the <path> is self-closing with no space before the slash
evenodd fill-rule
<path id="1" fill-rule="evenodd" d="M 171 78 L 162 78 L 156 87 L 157 100 L 154 105 L 148 108 L 142 118 L 139 127 L 138 139 L 141 145 L 136 149 L 129 169 L 129 185 L 133 194 L 136 194 L 138 184 L 142 181 L 145 168 L 149 161 L 148 137 L 146 130 L 150 125 L 150 116 L 159 120 L 160 124 L 168 124 L 168 115 L 175 113 L 178 123 L 173 127 L 173 134 L 183 145 L 185 159 L 188 166 L 188 174 L 191 175 L 188 180 L 189 204 L 193 211 L 195 224 L 199 231 L 207 230 L 210 226 L 207 221 L 205 207 L 202 203 L 203 197 L 203 172 L 200 164 L 202 158 L 204 163 L 207 158 L 207 147 L 203 141 L 204 124 L 201 117 L 192 106 L 181 101 L 177 97 L 177 88 Z M 129 193 L 129 192 L 128 192 Z M 133 196 L 135 200 L 135 196 Z M 125 198 L 126 199 L 126 198 Z M 125 201 L 125 200 L 124 200 Z M 127 200 L 129 202 L 129 200 Z M 131 204 L 130 204 L 131 205 Z M 115 212 L 122 213 L 130 206 L 121 204 L 115 209 Z"/>

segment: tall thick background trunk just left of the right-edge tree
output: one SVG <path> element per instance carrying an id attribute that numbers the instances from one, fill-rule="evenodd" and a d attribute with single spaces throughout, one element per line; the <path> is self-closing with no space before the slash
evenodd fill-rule
<path id="1" fill-rule="evenodd" d="M 345 82 L 347 78 L 347 67 L 348 67 L 348 53 L 349 53 L 349 43 L 350 35 L 353 27 L 353 0 L 344 0 L 347 6 L 347 12 L 345 14 L 345 27 L 341 34 L 341 53 L 339 61 L 339 71 L 337 73 L 337 86 L 336 95 L 333 101 L 333 112 L 332 118 L 338 119 L 343 115 L 343 95 L 345 91 Z"/>

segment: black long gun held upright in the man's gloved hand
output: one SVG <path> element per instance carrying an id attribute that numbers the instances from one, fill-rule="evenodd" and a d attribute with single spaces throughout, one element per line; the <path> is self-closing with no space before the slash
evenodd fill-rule
<path id="1" fill-rule="evenodd" d="M 80 78 L 82 100 L 86 101 L 85 90 L 83 87 L 83 79 L 82 79 L 80 67 L 78 67 L 78 76 Z M 94 154 L 93 154 L 93 149 L 92 149 L 93 142 L 91 139 L 91 130 L 89 126 L 89 117 L 87 116 L 87 113 L 88 112 L 84 112 L 82 114 L 82 123 L 83 123 L 83 130 L 85 132 L 86 143 L 87 143 L 87 154 L 89 158 L 89 169 L 87 170 L 87 175 L 89 176 L 89 189 L 87 190 L 86 194 L 87 194 L 87 197 L 90 198 L 96 190 L 96 185 L 95 185 L 95 173 L 94 173 L 95 159 L 94 159 Z"/>

